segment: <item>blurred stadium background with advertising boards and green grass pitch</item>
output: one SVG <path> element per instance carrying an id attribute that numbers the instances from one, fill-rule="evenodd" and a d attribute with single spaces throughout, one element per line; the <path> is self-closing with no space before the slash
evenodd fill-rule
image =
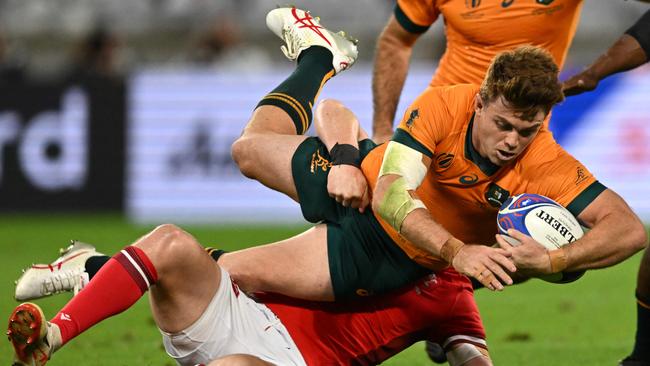
<path id="1" fill-rule="evenodd" d="M 266 30 L 268 0 L 0 0 L 0 313 L 20 268 L 68 239 L 112 253 L 162 222 L 237 249 L 303 228 L 298 207 L 243 178 L 230 144 L 258 99 L 291 70 Z M 321 98 L 368 128 L 374 41 L 393 1 L 298 4 L 360 39 L 360 61 Z M 564 76 L 603 52 L 647 9 L 585 1 Z M 398 118 L 444 50 L 421 39 Z M 553 114 L 556 139 L 650 222 L 650 68 L 616 75 Z M 639 257 L 575 284 L 533 281 L 479 293 L 501 365 L 613 365 L 631 347 Z M 69 296 L 41 303 L 52 314 Z M 427 364 L 416 345 L 389 364 Z M 8 342 L 0 358 L 9 361 Z M 5 362 L 5 361 L 0 361 Z M 71 343 L 53 365 L 171 364 L 146 301 Z"/>

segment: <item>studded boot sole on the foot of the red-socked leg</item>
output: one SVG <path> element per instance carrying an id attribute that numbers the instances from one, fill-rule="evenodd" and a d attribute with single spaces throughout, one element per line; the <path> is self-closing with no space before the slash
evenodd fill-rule
<path id="1" fill-rule="evenodd" d="M 42 366 L 61 347 L 61 331 L 45 320 L 36 304 L 18 305 L 9 317 L 7 336 L 14 347 L 12 366 Z"/>

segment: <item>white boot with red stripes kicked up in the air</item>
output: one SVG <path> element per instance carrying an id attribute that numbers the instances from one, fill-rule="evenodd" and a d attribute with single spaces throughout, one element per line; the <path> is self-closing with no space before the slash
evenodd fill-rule
<path id="1" fill-rule="evenodd" d="M 284 40 L 281 49 L 289 60 L 296 60 L 309 47 L 325 47 L 334 56 L 332 66 L 338 74 L 352 66 L 359 56 L 356 39 L 343 31 L 334 33 L 324 28 L 320 19 L 308 11 L 294 7 L 273 9 L 266 15 L 266 25 Z"/>

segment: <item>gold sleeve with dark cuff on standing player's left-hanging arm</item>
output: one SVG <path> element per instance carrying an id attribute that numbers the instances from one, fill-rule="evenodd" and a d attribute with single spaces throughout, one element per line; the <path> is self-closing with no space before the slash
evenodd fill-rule
<path id="1" fill-rule="evenodd" d="M 411 33 L 424 33 L 438 19 L 436 0 L 398 0 L 395 19 Z"/>

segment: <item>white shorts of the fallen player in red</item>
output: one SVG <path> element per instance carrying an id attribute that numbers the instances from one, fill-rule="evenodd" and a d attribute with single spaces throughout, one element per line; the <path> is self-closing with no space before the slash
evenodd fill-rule
<path id="1" fill-rule="evenodd" d="M 235 290 L 224 269 L 217 293 L 194 324 L 178 333 L 160 332 L 167 354 L 179 365 L 208 364 L 235 353 L 276 365 L 305 365 L 280 319 L 266 305 Z"/>

